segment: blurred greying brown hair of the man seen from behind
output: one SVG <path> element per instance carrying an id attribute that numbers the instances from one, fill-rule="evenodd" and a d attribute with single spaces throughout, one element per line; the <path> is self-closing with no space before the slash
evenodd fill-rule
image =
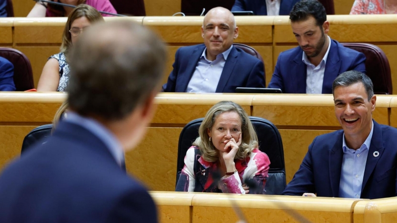
<path id="1" fill-rule="evenodd" d="M 160 89 L 166 48 L 129 20 L 87 28 L 70 54 L 68 103 L 80 115 L 122 120 Z"/>

